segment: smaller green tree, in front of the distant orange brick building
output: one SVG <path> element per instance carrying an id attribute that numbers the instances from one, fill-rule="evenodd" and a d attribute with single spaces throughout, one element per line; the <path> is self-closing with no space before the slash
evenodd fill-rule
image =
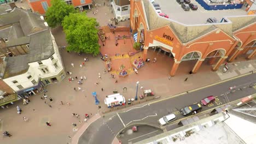
<path id="1" fill-rule="evenodd" d="M 68 5 L 62 0 L 51 0 L 51 7 L 45 13 L 46 22 L 52 28 L 61 26 L 64 17 L 75 13 L 73 5 Z"/>

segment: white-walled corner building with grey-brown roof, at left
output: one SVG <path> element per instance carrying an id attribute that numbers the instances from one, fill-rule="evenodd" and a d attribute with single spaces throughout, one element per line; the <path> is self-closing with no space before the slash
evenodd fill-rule
<path id="1" fill-rule="evenodd" d="M 65 78 L 58 47 L 42 16 L 15 8 L 0 20 L 0 57 L 6 63 L 0 76 L 7 85 L 19 95 L 33 95 Z"/>

